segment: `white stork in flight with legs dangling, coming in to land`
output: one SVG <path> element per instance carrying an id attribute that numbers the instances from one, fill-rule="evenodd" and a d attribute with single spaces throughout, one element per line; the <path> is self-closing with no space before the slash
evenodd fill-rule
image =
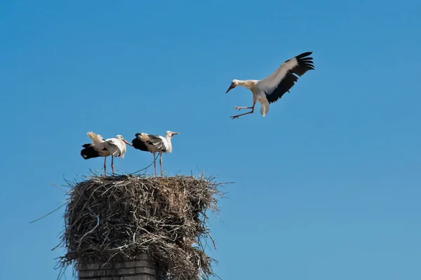
<path id="1" fill-rule="evenodd" d="M 266 116 L 269 111 L 269 104 L 276 102 L 285 92 L 289 92 L 290 88 L 298 80 L 298 77 L 294 74 L 302 76 L 305 72 L 314 70 L 313 58 L 307 57 L 311 54 L 312 52 L 304 52 L 301 55 L 288 59 L 274 73 L 262 80 L 232 80 L 227 92 L 236 86 L 247 87 L 253 92 L 253 106 L 234 107 L 234 109 L 251 109 L 251 111 L 231 116 L 230 118 L 234 120 L 234 118 L 239 118 L 239 116 L 253 113 L 256 102 L 260 102 L 260 113 L 262 116 Z"/>

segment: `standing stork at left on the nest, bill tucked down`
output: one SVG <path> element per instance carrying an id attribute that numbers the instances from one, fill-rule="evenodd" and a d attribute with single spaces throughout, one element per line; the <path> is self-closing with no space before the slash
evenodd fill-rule
<path id="1" fill-rule="evenodd" d="M 91 144 L 84 144 L 81 150 L 81 156 L 88 160 L 90 158 L 104 158 L 104 175 L 107 174 L 105 167 L 105 160 L 107 156 L 111 155 L 111 168 L 114 175 L 114 157 L 124 158 L 126 153 L 126 144 L 132 146 L 121 135 L 116 135 L 115 138 L 103 139 L 100 134 L 93 132 L 86 133 L 92 139 Z"/>

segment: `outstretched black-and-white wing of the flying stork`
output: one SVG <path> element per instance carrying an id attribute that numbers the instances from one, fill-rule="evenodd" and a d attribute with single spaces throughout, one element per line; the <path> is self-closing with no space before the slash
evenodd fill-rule
<path id="1" fill-rule="evenodd" d="M 314 70 L 313 58 L 308 57 L 311 54 L 312 52 L 303 52 L 301 55 L 288 59 L 274 73 L 258 82 L 258 88 L 265 92 L 269 103 L 276 102 L 285 92 L 289 92 L 298 80 L 298 76 Z"/>

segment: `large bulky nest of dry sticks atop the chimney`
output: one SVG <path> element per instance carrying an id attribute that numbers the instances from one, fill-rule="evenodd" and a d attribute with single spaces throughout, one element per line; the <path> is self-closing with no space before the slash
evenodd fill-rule
<path id="1" fill-rule="evenodd" d="M 67 193 L 59 244 L 66 253 L 58 265 L 77 269 L 78 263 L 134 260 L 143 252 L 163 279 L 215 276 L 204 245 L 213 242 L 207 212 L 218 214 L 221 185 L 203 175 L 91 176 L 75 183 Z"/>

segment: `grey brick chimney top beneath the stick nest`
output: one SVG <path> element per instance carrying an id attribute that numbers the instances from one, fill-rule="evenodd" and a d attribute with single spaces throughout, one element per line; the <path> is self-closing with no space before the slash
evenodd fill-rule
<path id="1" fill-rule="evenodd" d="M 79 263 L 79 280 L 158 280 L 155 264 L 149 255 L 140 253 L 137 260 L 104 263 Z"/>

